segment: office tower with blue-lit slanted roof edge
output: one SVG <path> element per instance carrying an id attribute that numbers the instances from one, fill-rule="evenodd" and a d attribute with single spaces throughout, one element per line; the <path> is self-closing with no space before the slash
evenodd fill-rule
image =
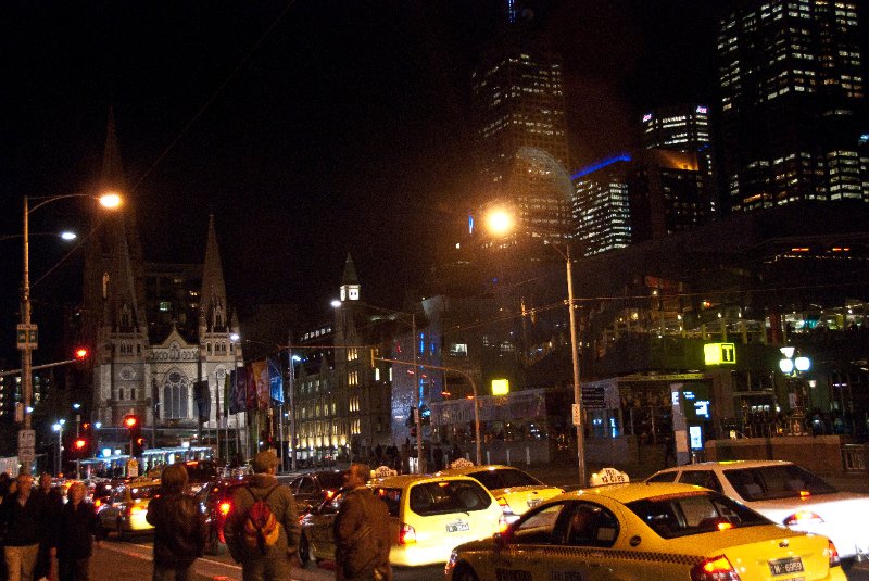
<path id="1" fill-rule="evenodd" d="M 574 238 L 581 244 L 583 255 L 631 243 L 628 192 L 631 169 L 631 156 L 624 153 L 583 167 L 571 176 L 576 184 Z"/>

